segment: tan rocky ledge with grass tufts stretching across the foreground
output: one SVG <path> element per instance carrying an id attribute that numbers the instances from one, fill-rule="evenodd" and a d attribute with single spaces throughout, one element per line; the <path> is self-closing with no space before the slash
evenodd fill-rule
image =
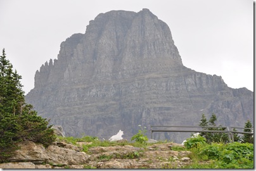
<path id="1" fill-rule="evenodd" d="M 116 146 L 91 147 L 87 153 L 82 151 L 83 144 L 88 142 L 76 146 L 55 142 L 45 148 L 24 141 L 10 162 L 0 163 L 0 168 L 181 168 L 192 163 L 191 152 L 180 151 L 184 146 L 176 143 L 138 148 L 121 141 Z"/>

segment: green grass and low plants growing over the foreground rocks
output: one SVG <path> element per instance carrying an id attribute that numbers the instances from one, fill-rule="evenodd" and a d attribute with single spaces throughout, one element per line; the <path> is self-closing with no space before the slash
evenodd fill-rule
<path id="1" fill-rule="evenodd" d="M 147 151 L 147 146 L 151 146 L 152 144 L 147 143 L 138 143 L 138 142 L 128 142 L 122 141 L 118 143 L 117 141 L 101 141 L 97 137 L 84 136 L 80 138 L 75 137 L 58 137 L 60 141 L 64 141 L 66 143 L 71 143 L 77 145 L 77 142 L 91 142 L 90 144 L 83 144 L 82 151 L 89 153 L 89 148 L 97 147 L 97 146 L 125 146 L 131 145 L 137 148 L 141 148 L 139 151 L 134 151 L 132 153 L 120 155 L 101 155 L 98 157 L 99 161 L 102 160 L 111 160 L 112 158 L 120 158 L 120 159 L 138 159 L 144 158 L 146 156 L 143 155 L 144 151 Z M 201 141 L 201 139 L 198 139 Z M 170 149 L 173 151 L 191 151 L 188 154 L 188 157 L 191 159 L 191 164 L 188 164 L 183 167 L 178 167 L 176 160 L 172 157 L 168 158 L 168 162 L 165 163 L 162 168 L 253 168 L 253 144 L 248 143 L 229 143 L 229 144 L 199 144 L 198 141 L 191 141 L 187 148 L 182 146 L 172 146 Z M 158 142 L 157 144 L 169 143 L 166 142 Z M 196 143 L 196 146 L 193 145 Z M 78 145 L 77 145 L 78 146 Z M 163 158 L 159 157 L 158 161 L 165 161 Z M 153 162 L 152 160 L 149 161 Z M 91 168 L 90 166 L 84 165 L 84 168 Z"/>

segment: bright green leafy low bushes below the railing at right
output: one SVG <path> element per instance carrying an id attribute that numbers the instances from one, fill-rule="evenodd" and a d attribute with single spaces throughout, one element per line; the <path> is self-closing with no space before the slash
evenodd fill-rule
<path id="1" fill-rule="evenodd" d="M 211 143 L 205 138 L 191 137 L 184 146 L 190 149 L 189 155 L 193 165 L 184 168 L 253 168 L 253 144 L 250 143 Z M 197 164 L 202 160 L 212 161 L 209 164 Z"/>

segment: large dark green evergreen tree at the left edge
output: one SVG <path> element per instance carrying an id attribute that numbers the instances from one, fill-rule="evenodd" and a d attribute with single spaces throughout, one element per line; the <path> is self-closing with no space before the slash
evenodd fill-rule
<path id="1" fill-rule="evenodd" d="M 22 77 L 3 54 L 0 56 L 0 162 L 5 162 L 17 149 L 20 141 L 51 144 L 54 132 L 45 118 L 37 116 L 32 105 L 25 103 Z"/>

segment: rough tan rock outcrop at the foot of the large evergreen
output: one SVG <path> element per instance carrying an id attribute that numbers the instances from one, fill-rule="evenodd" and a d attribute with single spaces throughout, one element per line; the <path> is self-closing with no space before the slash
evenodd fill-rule
<path id="1" fill-rule="evenodd" d="M 60 146 L 58 146 L 61 144 Z M 20 149 L 15 151 L 10 162 L 31 162 L 35 164 L 51 163 L 51 165 L 79 165 L 86 163 L 89 156 L 80 152 L 77 146 L 72 144 L 56 143 L 45 148 L 42 144 L 31 141 L 23 141 Z M 77 150 L 78 149 L 78 150 Z"/>

